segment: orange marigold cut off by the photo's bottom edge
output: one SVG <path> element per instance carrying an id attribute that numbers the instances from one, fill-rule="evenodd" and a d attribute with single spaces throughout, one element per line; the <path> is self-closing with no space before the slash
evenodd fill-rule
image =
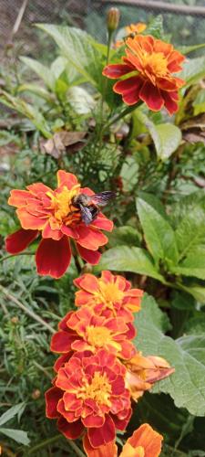
<path id="1" fill-rule="evenodd" d="M 162 440 L 163 437 L 149 424 L 143 424 L 128 438 L 119 457 L 159 457 Z M 115 441 L 94 449 L 86 435 L 83 445 L 87 457 L 118 457 L 118 447 Z"/>

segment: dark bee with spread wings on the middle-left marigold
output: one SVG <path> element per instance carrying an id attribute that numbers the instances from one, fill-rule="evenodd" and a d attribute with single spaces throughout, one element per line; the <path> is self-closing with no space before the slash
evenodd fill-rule
<path id="1" fill-rule="evenodd" d="M 108 201 L 111 198 L 116 197 L 115 192 L 110 190 L 105 190 L 104 192 L 99 192 L 93 196 L 87 196 L 87 194 L 79 194 L 72 199 L 73 207 L 77 207 L 80 212 L 82 221 L 88 226 L 97 218 L 99 213 L 99 207 L 105 207 L 108 204 Z"/>

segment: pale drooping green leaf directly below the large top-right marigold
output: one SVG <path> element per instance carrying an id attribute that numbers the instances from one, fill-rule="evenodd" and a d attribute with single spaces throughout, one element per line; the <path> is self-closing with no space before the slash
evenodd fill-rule
<path id="1" fill-rule="evenodd" d="M 172 123 L 160 123 L 155 125 L 141 110 L 136 110 L 135 116 L 138 121 L 147 127 L 155 144 L 156 152 L 160 160 L 165 161 L 179 147 L 181 132 L 179 127 Z"/>

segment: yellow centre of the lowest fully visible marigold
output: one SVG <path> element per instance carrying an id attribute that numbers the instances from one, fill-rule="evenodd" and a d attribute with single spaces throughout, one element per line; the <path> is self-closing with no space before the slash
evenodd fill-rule
<path id="1" fill-rule="evenodd" d="M 106 373 L 101 375 L 96 371 L 90 384 L 88 384 L 87 378 L 83 379 L 83 387 L 78 390 L 77 399 L 94 399 L 98 404 L 110 407 L 110 393 L 111 385 L 108 382 Z"/>

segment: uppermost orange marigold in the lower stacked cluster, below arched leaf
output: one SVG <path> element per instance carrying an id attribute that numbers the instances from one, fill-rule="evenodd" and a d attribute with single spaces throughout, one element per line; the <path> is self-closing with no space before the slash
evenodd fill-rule
<path id="1" fill-rule="evenodd" d="M 74 284 L 80 289 L 76 292 L 76 305 L 91 306 L 96 314 L 118 316 L 131 322 L 133 313 L 140 310 L 143 291 L 131 289 L 131 283 L 123 276 L 102 271 L 101 277 L 97 278 L 87 273 L 74 280 Z"/>

